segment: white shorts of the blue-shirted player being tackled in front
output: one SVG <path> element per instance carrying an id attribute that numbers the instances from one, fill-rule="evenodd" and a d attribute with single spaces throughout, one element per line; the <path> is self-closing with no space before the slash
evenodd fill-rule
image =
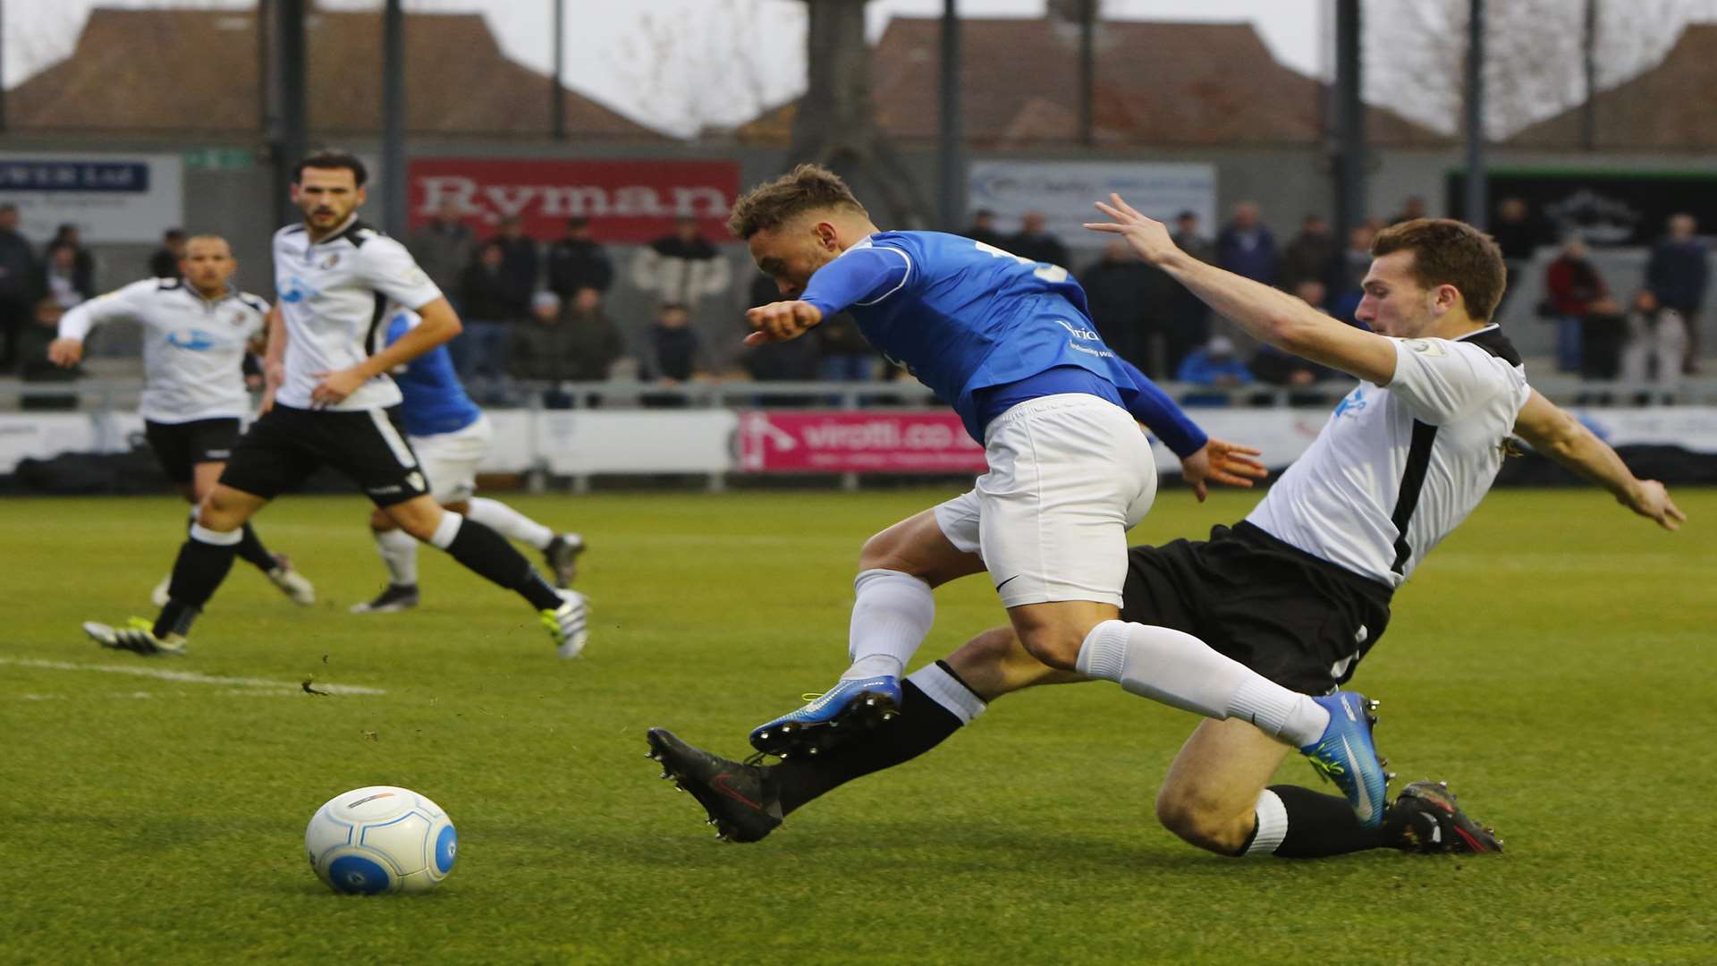
<path id="1" fill-rule="evenodd" d="M 989 473 L 936 507 L 956 548 L 984 557 L 1004 607 L 1051 600 L 1121 605 L 1126 531 L 1157 495 L 1150 442 L 1087 394 L 1030 399 L 984 430 Z"/>

